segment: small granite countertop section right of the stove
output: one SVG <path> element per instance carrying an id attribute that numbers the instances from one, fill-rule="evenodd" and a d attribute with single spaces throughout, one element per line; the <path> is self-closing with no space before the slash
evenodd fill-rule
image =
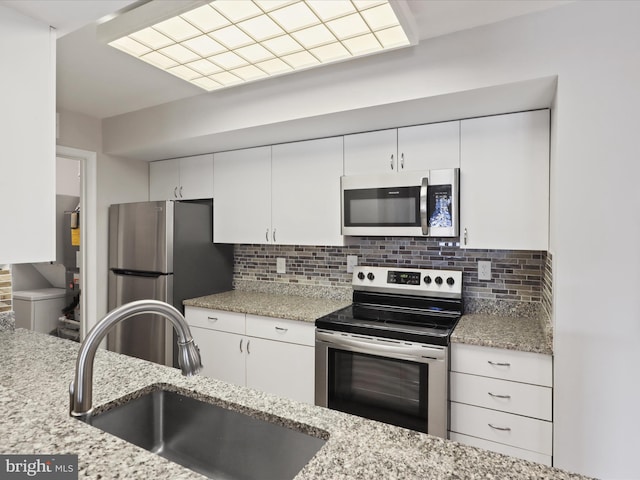
<path id="1" fill-rule="evenodd" d="M 463 315 L 451 335 L 451 342 L 553 354 L 551 339 L 539 317 Z"/>

